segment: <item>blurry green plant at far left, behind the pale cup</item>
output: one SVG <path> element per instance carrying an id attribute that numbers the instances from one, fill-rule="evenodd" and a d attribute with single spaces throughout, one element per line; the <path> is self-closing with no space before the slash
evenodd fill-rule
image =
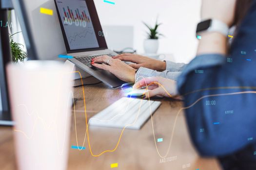
<path id="1" fill-rule="evenodd" d="M 18 32 L 20 33 L 20 32 Z M 15 33 L 15 34 L 18 34 L 18 33 Z M 22 48 L 24 48 L 24 46 L 20 43 L 17 43 L 13 40 L 13 35 L 15 34 L 12 34 L 9 36 L 9 39 L 10 39 L 10 47 L 11 47 L 11 52 L 12 52 L 12 60 L 13 62 L 23 62 L 24 59 L 27 58 L 27 53 L 25 51 L 23 51 Z M 21 48 L 22 46 L 22 48 Z"/>

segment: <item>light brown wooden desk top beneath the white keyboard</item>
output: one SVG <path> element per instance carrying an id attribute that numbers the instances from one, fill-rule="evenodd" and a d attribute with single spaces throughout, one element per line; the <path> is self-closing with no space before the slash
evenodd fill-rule
<path id="1" fill-rule="evenodd" d="M 110 89 L 102 83 L 84 88 L 88 118 L 124 96 L 121 89 Z M 82 87 L 75 88 L 75 98 L 79 99 L 76 103 L 76 116 L 78 142 L 81 146 L 86 131 Z M 153 115 L 153 125 L 156 139 L 163 138 L 163 142 L 157 143 L 157 146 L 159 153 L 164 155 L 169 145 L 174 119 L 182 107 L 182 102 L 168 99 L 159 101 L 162 104 Z M 72 116 L 70 145 L 76 145 L 74 113 Z M 92 152 L 99 154 L 104 150 L 114 149 L 120 132 L 121 129 L 89 127 Z M 0 127 L 1 170 L 16 169 L 12 133 L 11 127 Z M 203 159 L 197 155 L 190 142 L 183 113 L 178 116 L 170 153 L 167 156 L 177 156 L 174 161 L 159 163 L 151 119 L 140 130 L 125 130 L 115 152 L 94 157 L 89 151 L 87 138 L 84 146 L 86 149 L 82 151 L 70 149 L 68 170 L 109 170 L 110 164 L 113 163 L 118 163 L 118 168 L 113 170 L 220 170 L 216 159 Z M 184 164 L 188 167 L 182 168 Z"/>

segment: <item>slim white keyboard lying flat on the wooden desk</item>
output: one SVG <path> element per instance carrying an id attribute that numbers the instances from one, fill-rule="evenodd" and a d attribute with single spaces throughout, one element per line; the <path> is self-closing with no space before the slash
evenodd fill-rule
<path id="1" fill-rule="evenodd" d="M 92 117 L 89 125 L 140 129 L 150 118 L 150 107 L 153 114 L 160 104 L 161 102 L 123 97 Z"/>

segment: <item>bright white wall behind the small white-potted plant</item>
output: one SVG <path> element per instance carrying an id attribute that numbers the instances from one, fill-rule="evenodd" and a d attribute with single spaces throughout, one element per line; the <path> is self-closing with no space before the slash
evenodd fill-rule
<path id="1" fill-rule="evenodd" d="M 188 63 L 195 57 L 196 25 L 201 0 L 95 0 L 101 25 L 134 26 L 134 46 L 144 52 L 143 40 L 146 28 L 142 21 L 154 24 L 159 16 L 163 23 L 159 31 L 166 37 L 160 39 L 158 53 L 173 53 L 177 62 Z"/>

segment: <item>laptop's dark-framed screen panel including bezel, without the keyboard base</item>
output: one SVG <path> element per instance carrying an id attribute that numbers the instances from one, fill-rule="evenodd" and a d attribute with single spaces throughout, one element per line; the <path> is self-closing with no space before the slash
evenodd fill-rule
<path id="1" fill-rule="evenodd" d="M 106 49 L 93 0 L 56 0 L 67 51 Z"/>

